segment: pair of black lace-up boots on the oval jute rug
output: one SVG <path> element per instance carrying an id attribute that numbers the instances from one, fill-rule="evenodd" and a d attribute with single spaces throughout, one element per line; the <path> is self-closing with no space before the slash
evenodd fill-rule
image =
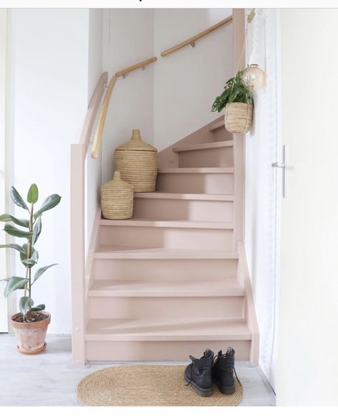
<path id="1" fill-rule="evenodd" d="M 192 355 L 189 357 L 192 364 L 189 364 L 185 369 L 184 379 L 187 381 L 187 385 L 194 387 L 199 396 L 212 396 L 213 382 L 224 395 L 232 395 L 235 392 L 234 374 L 236 375 L 236 370 L 234 369 L 234 349 L 232 347 L 229 347 L 225 354 L 222 354 L 222 350 L 219 351 L 216 357 L 209 348 L 199 359 L 192 357 Z"/>

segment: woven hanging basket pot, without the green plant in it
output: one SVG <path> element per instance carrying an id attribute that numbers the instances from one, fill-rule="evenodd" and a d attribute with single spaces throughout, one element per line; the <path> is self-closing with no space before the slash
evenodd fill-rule
<path id="1" fill-rule="evenodd" d="M 252 124 L 252 105 L 232 102 L 225 106 L 225 128 L 230 133 L 247 133 Z"/>

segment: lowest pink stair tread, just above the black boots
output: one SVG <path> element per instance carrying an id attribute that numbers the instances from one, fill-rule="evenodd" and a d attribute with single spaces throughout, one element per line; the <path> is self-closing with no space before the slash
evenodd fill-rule
<path id="1" fill-rule="evenodd" d="M 146 318 L 91 319 L 86 340 L 252 340 L 242 319 Z"/>

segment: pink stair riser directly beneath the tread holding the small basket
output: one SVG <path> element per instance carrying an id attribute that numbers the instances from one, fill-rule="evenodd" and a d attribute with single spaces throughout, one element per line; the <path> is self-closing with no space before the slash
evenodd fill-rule
<path id="1" fill-rule="evenodd" d="M 119 247 L 169 249 L 233 249 L 232 229 L 194 229 L 166 227 L 101 227 L 101 244 Z"/>

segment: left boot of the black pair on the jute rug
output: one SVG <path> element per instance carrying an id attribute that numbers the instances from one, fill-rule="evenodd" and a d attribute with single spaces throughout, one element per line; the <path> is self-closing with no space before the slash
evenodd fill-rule
<path id="1" fill-rule="evenodd" d="M 189 356 L 192 360 L 192 364 L 189 364 L 184 371 L 184 379 L 192 385 L 195 392 L 199 396 L 209 397 L 214 392 L 212 387 L 212 363 L 214 362 L 214 352 L 212 350 L 204 351 L 204 355 L 201 358 Z"/>

